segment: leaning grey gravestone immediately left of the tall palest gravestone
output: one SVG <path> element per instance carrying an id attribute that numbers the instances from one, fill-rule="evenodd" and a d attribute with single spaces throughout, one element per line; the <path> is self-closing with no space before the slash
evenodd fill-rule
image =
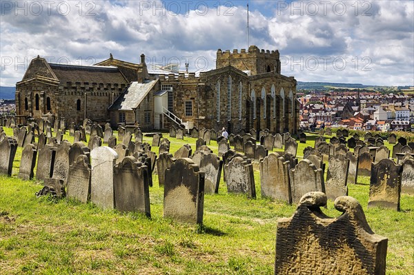
<path id="1" fill-rule="evenodd" d="M 88 156 L 81 154 L 70 164 L 66 196 L 87 203 L 90 198 L 91 167 Z"/>

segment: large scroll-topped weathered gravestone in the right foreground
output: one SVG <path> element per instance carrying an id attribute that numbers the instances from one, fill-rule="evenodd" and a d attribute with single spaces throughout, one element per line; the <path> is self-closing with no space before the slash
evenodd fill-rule
<path id="1" fill-rule="evenodd" d="M 304 194 L 295 214 L 277 221 L 275 274 L 385 275 L 388 239 L 374 234 L 355 198 L 340 196 L 330 218 L 322 192 Z"/>

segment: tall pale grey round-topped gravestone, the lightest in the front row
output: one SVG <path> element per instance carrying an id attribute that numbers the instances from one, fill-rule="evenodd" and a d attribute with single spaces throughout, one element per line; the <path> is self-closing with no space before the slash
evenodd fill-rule
<path id="1" fill-rule="evenodd" d="M 110 147 L 96 147 L 90 152 L 90 201 L 103 209 L 115 208 L 114 165 L 118 154 Z"/>

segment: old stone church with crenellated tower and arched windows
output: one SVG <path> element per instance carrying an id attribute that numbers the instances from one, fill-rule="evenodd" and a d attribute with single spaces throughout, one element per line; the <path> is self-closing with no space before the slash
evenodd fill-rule
<path id="1" fill-rule="evenodd" d="M 18 118 L 52 114 L 80 123 L 139 125 L 142 130 L 209 128 L 229 132 L 268 128 L 296 133 L 296 80 L 281 74 L 279 52 L 217 50 L 216 68 L 179 72 L 110 58 L 91 66 L 32 59 L 16 84 Z"/>

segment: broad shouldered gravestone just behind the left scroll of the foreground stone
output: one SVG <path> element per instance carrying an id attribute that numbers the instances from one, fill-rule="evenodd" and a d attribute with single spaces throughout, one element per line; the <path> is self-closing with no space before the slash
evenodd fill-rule
<path id="1" fill-rule="evenodd" d="M 299 203 L 300 198 L 308 192 L 325 192 L 324 172 L 308 159 L 299 161 L 290 169 L 289 178 L 292 203 Z"/>

